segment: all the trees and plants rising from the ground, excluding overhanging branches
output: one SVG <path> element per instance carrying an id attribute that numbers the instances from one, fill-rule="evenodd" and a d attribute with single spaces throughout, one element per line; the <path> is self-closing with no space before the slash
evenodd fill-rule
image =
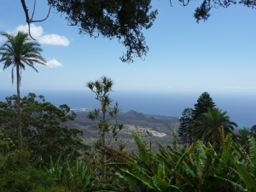
<path id="1" fill-rule="evenodd" d="M 159 152 L 152 153 L 152 141 L 145 143 L 135 125 L 132 137 L 138 153 L 128 155 L 125 143 L 119 150 L 112 148 L 123 129 L 116 118 L 119 103 L 112 108 L 109 97 L 113 80 L 88 82 L 102 107 L 87 116 L 100 136 L 91 154 L 80 139 L 82 131 L 61 126 L 76 117 L 66 104 L 56 108 L 34 93 L 20 98 L 20 69 L 25 64 L 34 68 L 33 62 L 44 64 L 42 49 L 31 44 L 26 33 L 5 35 L 8 41 L 0 47 L 0 61 L 4 69 L 16 67 L 17 96 L 0 102 L 0 191 L 256 190 L 256 125 L 232 134 L 236 123 L 215 108 L 207 92 L 195 109 L 184 110 L 180 129 L 172 130 L 172 145 L 156 141 Z M 115 119 L 113 124 L 110 119 Z"/>

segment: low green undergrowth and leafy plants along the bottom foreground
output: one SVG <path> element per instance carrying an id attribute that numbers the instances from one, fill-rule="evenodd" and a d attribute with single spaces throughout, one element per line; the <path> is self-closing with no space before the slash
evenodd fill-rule
<path id="1" fill-rule="evenodd" d="M 55 158 L 55 153 L 50 150 L 45 150 L 44 156 L 34 160 L 32 146 L 26 140 L 23 150 L 15 150 L 14 138 L 5 134 L 9 132 L 12 133 L 9 136 L 15 135 L 15 130 L 10 130 L 6 125 L 9 124 L 1 124 L 1 191 L 256 190 L 254 138 L 249 136 L 248 144 L 241 147 L 233 141 L 231 133 L 224 137 L 224 128 L 223 139 L 213 145 L 198 140 L 180 149 L 178 143 L 166 147 L 158 143 L 159 153 L 156 154 L 150 151 L 150 145 L 148 147 L 148 143 L 143 142 L 140 132 L 136 130 L 132 136 L 139 152 L 127 155 L 104 147 L 101 152 L 112 160 L 102 165 L 101 159 L 94 159 L 95 154 L 78 159 L 74 158 L 73 153 L 60 153 Z M 55 134 L 58 135 L 57 132 Z M 71 131 L 68 134 L 72 136 Z M 60 150 L 69 148 L 70 143 L 62 143 L 61 147 Z M 49 157 L 49 163 L 44 161 L 46 157 Z M 102 170 L 98 169 L 102 166 L 108 170 L 111 183 L 96 179 L 102 175 Z"/>

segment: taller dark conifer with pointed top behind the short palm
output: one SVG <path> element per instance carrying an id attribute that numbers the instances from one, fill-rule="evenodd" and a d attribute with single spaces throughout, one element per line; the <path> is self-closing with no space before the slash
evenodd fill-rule
<path id="1" fill-rule="evenodd" d="M 195 103 L 195 109 L 193 111 L 193 119 L 196 120 L 202 117 L 204 113 L 208 112 L 208 108 L 215 108 L 215 103 L 212 101 L 212 97 L 208 92 L 203 92 Z"/>

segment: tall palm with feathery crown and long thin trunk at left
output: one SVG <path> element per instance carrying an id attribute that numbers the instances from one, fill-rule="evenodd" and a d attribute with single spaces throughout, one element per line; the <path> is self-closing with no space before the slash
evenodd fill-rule
<path id="1" fill-rule="evenodd" d="M 43 49 L 40 48 L 38 42 L 31 41 L 26 32 L 18 32 L 16 36 L 6 32 L 1 35 L 7 38 L 5 44 L 0 47 L 0 55 L 3 61 L 3 70 L 12 66 L 12 84 L 14 84 L 14 68 L 16 67 L 17 76 L 17 96 L 18 96 L 18 137 L 19 149 L 22 149 L 22 133 L 21 133 L 21 113 L 20 113 L 20 81 L 21 69 L 25 70 L 25 64 L 32 67 L 36 72 L 38 70 L 33 66 L 34 62 L 44 65 L 46 60 L 40 54 Z"/>

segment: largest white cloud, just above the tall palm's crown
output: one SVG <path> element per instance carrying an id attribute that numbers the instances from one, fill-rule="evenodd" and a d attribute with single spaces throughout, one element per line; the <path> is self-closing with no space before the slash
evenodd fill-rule
<path id="1" fill-rule="evenodd" d="M 10 33 L 16 34 L 19 31 L 28 32 L 28 26 L 27 25 L 17 26 L 15 31 Z M 38 43 L 40 44 L 54 44 L 54 45 L 62 45 L 62 46 L 68 46 L 70 44 L 70 41 L 65 36 L 60 36 L 57 34 L 44 35 L 44 29 L 42 26 L 35 26 L 34 24 L 31 24 L 30 32 L 31 32 L 32 38 L 37 39 Z M 0 41 L 1 41 L 1 37 L 0 37 Z"/>

